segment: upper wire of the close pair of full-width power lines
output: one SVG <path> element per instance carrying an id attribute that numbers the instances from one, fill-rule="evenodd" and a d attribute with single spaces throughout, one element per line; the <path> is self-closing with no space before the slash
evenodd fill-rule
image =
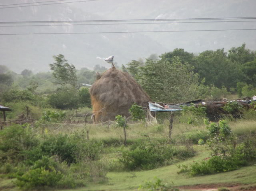
<path id="1" fill-rule="evenodd" d="M 87 0 L 88 1 L 88 0 Z M 89 0 L 97 1 L 97 0 Z M 14 23 L 59 23 L 59 22 L 137 22 L 137 21 L 189 21 L 189 20 L 242 20 L 256 17 L 217 17 L 217 18 L 176 18 L 176 19 L 119 19 L 119 20 L 66 20 L 66 21 L 0 21 L 0 24 Z"/>

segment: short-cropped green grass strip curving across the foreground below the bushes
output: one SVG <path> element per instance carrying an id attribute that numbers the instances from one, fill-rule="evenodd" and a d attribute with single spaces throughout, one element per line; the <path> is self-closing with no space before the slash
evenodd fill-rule
<path id="1" fill-rule="evenodd" d="M 106 183 L 88 184 L 86 187 L 77 189 L 62 189 L 58 191 L 90 191 L 90 190 L 105 190 L 105 191 L 135 191 L 138 186 L 143 184 L 145 180 L 152 180 L 160 178 L 163 182 L 174 187 L 201 185 L 202 188 L 216 188 L 222 186 L 236 186 L 236 185 L 254 185 L 256 184 L 256 165 L 243 167 L 236 171 L 219 173 L 207 176 L 189 177 L 187 175 L 177 174 L 179 169 L 178 164 L 190 164 L 195 161 L 200 161 L 210 156 L 210 151 L 206 150 L 204 146 L 195 146 L 198 155 L 189 160 L 179 162 L 167 167 L 162 167 L 149 171 L 139 172 L 109 172 L 107 174 L 108 181 Z M 111 155 L 112 157 L 112 155 Z M 135 174 L 135 176 L 134 176 Z M 17 188 L 12 188 L 12 180 L 0 180 L 0 190 L 14 191 Z"/>

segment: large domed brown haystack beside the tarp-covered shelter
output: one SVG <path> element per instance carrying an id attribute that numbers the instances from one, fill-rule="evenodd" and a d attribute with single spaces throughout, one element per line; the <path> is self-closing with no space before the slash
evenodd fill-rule
<path id="1" fill-rule="evenodd" d="M 151 101 L 147 93 L 127 72 L 115 67 L 105 71 L 90 88 L 95 121 L 114 120 L 115 116 L 129 116 L 132 104 Z"/>

